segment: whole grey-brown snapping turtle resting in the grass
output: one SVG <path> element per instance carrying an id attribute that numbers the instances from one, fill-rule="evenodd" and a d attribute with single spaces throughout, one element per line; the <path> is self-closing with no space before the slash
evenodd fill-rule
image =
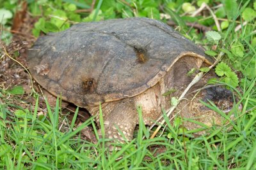
<path id="1" fill-rule="evenodd" d="M 181 94 L 193 80 L 187 73 L 212 62 L 204 50 L 149 18 L 80 23 L 47 34 L 35 42 L 27 61 L 44 89 L 97 115 L 98 124 L 101 103 L 106 138 L 124 135 L 128 140 L 138 124 L 136 106 L 141 106 L 145 124 L 152 124 L 162 109 L 170 108 L 170 97 Z M 206 75 L 194 90 L 212 76 Z M 168 94 L 172 89 L 175 92 Z M 224 109 L 232 106 L 232 93 L 214 87 L 202 90 L 196 99 L 182 101 L 180 115 L 209 126 L 221 124 L 221 116 L 199 99 L 212 99 L 217 105 L 228 101 Z M 185 122 L 184 126 L 199 125 Z"/>

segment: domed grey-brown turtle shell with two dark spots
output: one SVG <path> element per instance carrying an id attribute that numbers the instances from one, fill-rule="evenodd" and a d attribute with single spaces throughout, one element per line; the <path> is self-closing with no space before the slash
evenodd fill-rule
<path id="1" fill-rule="evenodd" d="M 210 64 L 204 50 L 163 22 L 127 18 L 80 23 L 42 36 L 27 61 L 44 89 L 86 107 L 144 92 L 188 55 Z"/>

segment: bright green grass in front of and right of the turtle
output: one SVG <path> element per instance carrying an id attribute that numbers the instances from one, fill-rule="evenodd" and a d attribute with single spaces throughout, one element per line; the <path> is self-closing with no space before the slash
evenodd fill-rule
<path id="1" fill-rule="evenodd" d="M 68 1 L 71 2 L 71 1 Z M 179 7 L 182 4 L 174 1 Z M 226 1 L 221 1 L 228 5 Z M 102 5 L 102 6 L 101 6 Z M 95 8 L 93 19 L 99 17 L 106 2 L 100 1 Z M 158 5 L 158 4 L 157 4 Z M 210 2 L 209 5 L 214 6 Z M 168 123 L 162 136 L 149 139 L 150 133 L 141 118 L 134 139 L 125 144 L 115 143 L 120 150 L 109 152 L 106 146 L 107 139 L 99 138 L 93 118 L 86 120 L 76 127 L 75 120 L 79 109 L 77 108 L 72 120 L 60 109 L 59 100 L 51 108 L 45 101 L 46 115 L 40 113 L 40 99 L 35 97 L 35 104 L 27 104 L 20 100 L 20 95 L 12 94 L 8 90 L 0 89 L 0 168 L 1 169 L 256 169 L 256 48 L 255 21 L 243 25 L 244 11 L 253 8 L 250 1 L 237 4 L 239 10 L 227 15 L 236 20 L 230 22 L 227 29 L 219 33 L 222 39 L 217 44 L 201 39 L 204 35 L 196 35 L 195 29 L 187 34 L 195 37 L 195 41 L 204 45 L 207 50 L 216 46 L 216 53 L 225 53 L 221 59 L 234 68 L 234 73 L 239 73 L 239 87 L 235 89 L 243 110 L 236 112 L 236 119 L 230 122 L 232 127 L 211 127 L 209 134 L 193 136 L 193 133 L 180 129 L 180 118 Z M 132 6 L 132 4 L 131 4 Z M 136 6 L 136 11 L 145 10 L 147 6 Z M 57 8 L 54 6 L 54 8 Z M 129 8 L 125 13 L 129 14 Z M 255 9 L 256 10 L 256 9 Z M 230 12 L 230 11 L 229 11 Z M 166 11 L 168 13 L 168 10 Z M 177 13 L 169 13 L 177 18 L 176 22 L 186 27 L 186 20 Z M 137 13 L 138 14 L 138 13 Z M 116 13 L 116 16 L 120 14 Z M 106 16 L 105 16 L 106 17 Z M 207 16 L 211 18 L 211 15 Z M 200 20 L 206 20 L 201 18 Z M 235 31 L 237 25 L 240 31 Z M 183 26 L 182 26 L 183 25 Z M 211 25 L 214 27 L 214 24 Z M 182 32 L 186 29 L 182 29 Z M 188 31 L 186 31 L 188 32 Z M 241 45 L 243 48 L 241 47 Z M 237 46 L 239 48 L 237 48 Z M 243 56 L 239 53 L 243 52 Z M 13 101 L 15 100 L 15 102 Z M 26 103 L 26 101 L 25 101 Z M 238 106 L 238 105 L 237 105 Z M 212 109 L 216 109 L 213 106 Z M 218 110 L 216 110 L 218 111 Z M 139 115 L 140 109 L 138 109 Z M 101 125 L 102 117 L 100 118 Z M 99 142 L 90 143 L 83 139 L 80 131 L 90 125 Z M 74 129 L 74 127 L 76 127 Z M 104 129 L 101 129 L 104 131 Z M 104 133 L 103 133 L 104 134 Z M 143 139 L 143 136 L 145 138 Z M 158 152 L 160 151 L 161 152 Z M 156 153 L 156 154 L 155 154 Z"/>

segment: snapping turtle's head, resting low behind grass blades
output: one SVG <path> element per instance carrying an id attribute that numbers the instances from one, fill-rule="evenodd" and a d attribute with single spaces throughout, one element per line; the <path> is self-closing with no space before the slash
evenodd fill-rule
<path id="1" fill-rule="evenodd" d="M 241 105 L 236 107 L 237 97 L 233 92 L 221 86 L 206 87 L 196 94 L 191 92 L 187 99 L 190 102 L 181 111 L 186 120 L 184 127 L 188 130 L 201 129 L 195 132 L 196 135 L 205 134 L 208 127 L 230 125 L 236 111 L 242 110 Z"/>

